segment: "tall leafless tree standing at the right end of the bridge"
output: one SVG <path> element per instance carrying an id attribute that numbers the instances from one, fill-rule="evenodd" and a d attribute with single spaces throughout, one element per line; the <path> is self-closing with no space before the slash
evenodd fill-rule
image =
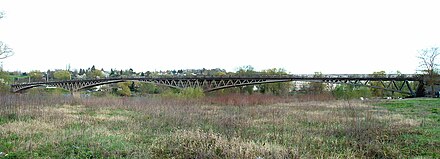
<path id="1" fill-rule="evenodd" d="M 438 82 L 438 70 L 437 56 L 440 55 L 439 47 L 431 47 L 419 51 L 417 58 L 420 60 L 420 68 L 426 74 L 427 85 L 431 86 L 431 95 L 435 96 L 434 85 Z"/>

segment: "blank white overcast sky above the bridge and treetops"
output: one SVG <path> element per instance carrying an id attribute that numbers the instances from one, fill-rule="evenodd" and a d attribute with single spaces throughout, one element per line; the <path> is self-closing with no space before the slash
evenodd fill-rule
<path id="1" fill-rule="evenodd" d="M 415 73 L 438 0 L 0 0 L 9 71 L 284 68 Z"/>

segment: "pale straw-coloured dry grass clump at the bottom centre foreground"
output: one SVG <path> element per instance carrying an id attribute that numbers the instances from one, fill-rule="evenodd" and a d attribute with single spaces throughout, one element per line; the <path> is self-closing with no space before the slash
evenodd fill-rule
<path id="1" fill-rule="evenodd" d="M 177 130 L 157 138 L 150 147 L 153 158 L 285 158 L 289 151 L 282 146 L 228 139 L 202 130 Z"/>

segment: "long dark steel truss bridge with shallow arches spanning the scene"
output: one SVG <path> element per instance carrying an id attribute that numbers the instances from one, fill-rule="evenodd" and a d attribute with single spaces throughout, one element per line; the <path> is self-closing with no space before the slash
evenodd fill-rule
<path id="1" fill-rule="evenodd" d="M 121 77 L 101 79 L 73 79 L 62 81 L 35 81 L 15 83 L 11 85 L 12 92 L 22 92 L 34 87 L 59 87 L 69 90 L 72 94 L 82 89 L 99 85 L 139 81 L 164 85 L 177 89 L 200 87 L 205 92 L 240 87 L 247 85 L 258 85 L 265 83 L 278 83 L 289 81 L 323 82 L 336 84 L 350 84 L 354 86 L 366 86 L 376 89 L 383 89 L 391 92 L 399 92 L 411 96 L 418 96 L 423 91 L 423 76 L 417 74 L 323 74 L 323 75 L 251 75 L 251 76 L 172 76 L 172 77 Z M 414 90 L 410 83 L 417 82 L 418 87 Z M 422 93 L 423 94 L 423 93 Z"/>

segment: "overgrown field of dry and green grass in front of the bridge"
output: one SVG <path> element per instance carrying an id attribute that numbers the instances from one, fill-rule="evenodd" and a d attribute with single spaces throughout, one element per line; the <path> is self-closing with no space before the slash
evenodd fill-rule
<path id="1" fill-rule="evenodd" d="M 439 158 L 440 100 L 0 97 L 0 158 Z"/>

